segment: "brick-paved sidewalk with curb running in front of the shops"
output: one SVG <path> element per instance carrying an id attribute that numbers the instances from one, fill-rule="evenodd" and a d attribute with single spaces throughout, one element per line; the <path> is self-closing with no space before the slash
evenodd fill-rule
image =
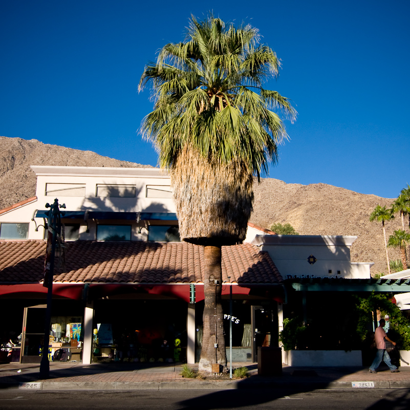
<path id="1" fill-rule="evenodd" d="M 0 364 L 0 389 L 30 390 L 170 390 L 170 389 L 409 389 L 410 367 L 400 373 L 379 368 L 294 368 L 283 366 L 282 376 L 262 377 L 256 363 L 234 363 L 233 368 L 247 366 L 249 377 L 229 380 L 186 379 L 181 365 L 142 363 L 50 363 L 50 378 L 39 379 L 39 364 Z M 192 365 L 193 369 L 197 368 Z"/>

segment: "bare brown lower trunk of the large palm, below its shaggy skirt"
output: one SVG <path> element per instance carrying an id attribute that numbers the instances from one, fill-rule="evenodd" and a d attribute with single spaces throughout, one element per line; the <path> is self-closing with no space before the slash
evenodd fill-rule
<path id="1" fill-rule="evenodd" d="M 222 254 L 220 246 L 205 246 L 205 307 L 200 372 L 212 372 L 212 364 L 226 366 L 224 314 L 222 311 Z M 217 284 L 215 284 L 217 281 Z M 215 343 L 218 347 L 215 348 Z"/>

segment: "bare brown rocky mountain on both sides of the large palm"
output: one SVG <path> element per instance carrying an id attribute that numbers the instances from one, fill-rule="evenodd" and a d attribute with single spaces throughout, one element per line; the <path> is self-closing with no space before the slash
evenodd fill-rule
<path id="1" fill-rule="evenodd" d="M 0 148 L 0 209 L 35 195 L 36 180 L 30 165 L 150 167 L 37 140 L 0 137 Z M 302 235 L 356 235 L 352 261 L 374 262 L 372 274 L 386 273 L 382 227 L 369 222 L 369 215 L 377 204 L 390 206 L 393 199 L 326 184 L 287 184 L 273 178 L 263 179 L 254 192 L 250 222 L 262 227 L 290 223 Z M 387 235 L 399 228 L 399 218 L 386 223 Z M 400 257 L 395 249 L 389 254 L 391 259 Z"/>

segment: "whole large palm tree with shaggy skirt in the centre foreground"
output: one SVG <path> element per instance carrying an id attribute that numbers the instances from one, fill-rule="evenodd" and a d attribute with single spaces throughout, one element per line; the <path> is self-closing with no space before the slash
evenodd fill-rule
<path id="1" fill-rule="evenodd" d="M 155 101 L 141 133 L 169 171 L 181 239 L 205 247 L 205 372 L 226 365 L 221 246 L 245 239 L 254 177 L 267 173 L 287 138 L 274 110 L 296 116 L 287 98 L 263 87 L 279 67 L 257 29 L 191 16 L 185 40 L 164 46 L 140 80 L 139 90 L 150 83 Z"/>

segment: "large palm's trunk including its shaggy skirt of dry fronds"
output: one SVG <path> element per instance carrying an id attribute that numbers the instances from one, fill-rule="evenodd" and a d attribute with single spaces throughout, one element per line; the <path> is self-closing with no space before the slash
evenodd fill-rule
<path id="1" fill-rule="evenodd" d="M 223 164 L 203 158 L 189 146 L 180 152 L 170 169 L 170 177 L 181 240 L 204 246 L 205 250 L 205 308 L 199 370 L 211 372 L 212 363 L 226 365 L 221 246 L 242 243 L 245 239 L 252 211 L 253 178 L 245 164 Z M 217 348 L 214 343 L 218 343 Z"/>

